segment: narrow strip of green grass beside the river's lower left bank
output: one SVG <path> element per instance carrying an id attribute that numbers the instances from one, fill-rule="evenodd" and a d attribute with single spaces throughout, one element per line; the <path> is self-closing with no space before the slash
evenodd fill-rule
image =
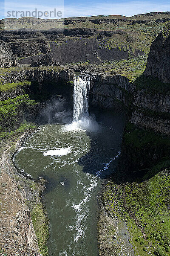
<path id="1" fill-rule="evenodd" d="M 43 256 L 48 256 L 48 247 L 46 245 L 49 237 L 48 221 L 41 203 L 35 205 L 31 210 L 31 219 L 37 236 L 40 253 Z"/>

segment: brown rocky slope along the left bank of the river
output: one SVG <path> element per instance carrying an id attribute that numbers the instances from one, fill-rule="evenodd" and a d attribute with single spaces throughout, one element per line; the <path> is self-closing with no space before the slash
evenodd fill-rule
<path id="1" fill-rule="evenodd" d="M 6 144 L 6 148 L 2 146 L 3 154 L 0 157 L 1 256 L 25 256 L 27 254 L 41 256 L 40 241 L 37 240 L 38 233 L 34 230 L 34 219 L 32 220 L 31 217 L 34 218 L 35 206 L 41 205 L 40 193 L 44 186 L 42 183 L 34 184 L 20 175 L 11 163 L 14 146 L 19 147 L 25 136 L 26 134 L 20 140 L 13 138 L 12 147 L 10 141 Z"/>

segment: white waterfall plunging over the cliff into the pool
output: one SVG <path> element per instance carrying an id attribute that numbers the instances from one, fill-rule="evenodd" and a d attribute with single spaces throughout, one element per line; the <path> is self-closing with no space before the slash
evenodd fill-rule
<path id="1" fill-rule="evenodd" d="M 74 78 L 74 106 L 73 121 L 77 122 L 82 117 L 88 116 L 88 95 L 90 90 L 90 77 L 81 76 Z"/>

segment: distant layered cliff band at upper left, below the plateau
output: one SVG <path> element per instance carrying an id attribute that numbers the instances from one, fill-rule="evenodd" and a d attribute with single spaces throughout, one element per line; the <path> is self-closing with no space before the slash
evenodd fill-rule
<path id="1" fill-rule="evenodd" d="M 62 40 L 67 37 L 91 37 L 98 34 L 96 29 L 75 28 L 75 29 L 18 29 L 0 32 L 0 39 L 8 43 L 12 52 L 19 58 L 37 55 L 39 53 L 47 54 L 51 52 L 48 41 Z"/>

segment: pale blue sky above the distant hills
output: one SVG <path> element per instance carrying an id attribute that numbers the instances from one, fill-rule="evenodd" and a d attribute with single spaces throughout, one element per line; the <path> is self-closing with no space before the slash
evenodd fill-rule
<path id="1" fill-rule="evenodd" d="M 7 11 L 50 11 L 54 8 L 62 11 L 62 17 L 78 17 L 93 15 L 125 15 L 132 16 L 147 12 L 170 11 L 169 0 L 5 0 Z M 7 16 L 7 15 L 6 15 Z M 4 0 L 0 0 L 0 18 L 4 17 Z M 17 16 L 18 17 L 18 16 Z M 44 18 L 44 17 L 43 17 Z M 49 18 L 49 17 L 48 17 Z"/>

